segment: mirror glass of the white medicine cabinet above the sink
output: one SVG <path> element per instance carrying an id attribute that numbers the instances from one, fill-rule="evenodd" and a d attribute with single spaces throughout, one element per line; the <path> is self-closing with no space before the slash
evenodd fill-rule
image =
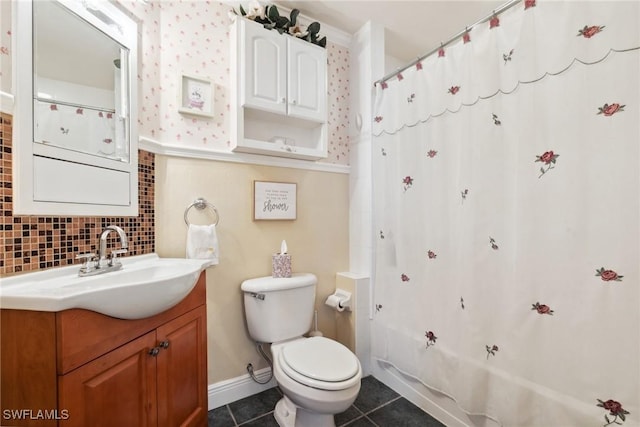
<path id="1" fill-rule="evenodd" d="M 34 141 L 128 161 L 128 49 L 60 3 L 33 22 Z"/>

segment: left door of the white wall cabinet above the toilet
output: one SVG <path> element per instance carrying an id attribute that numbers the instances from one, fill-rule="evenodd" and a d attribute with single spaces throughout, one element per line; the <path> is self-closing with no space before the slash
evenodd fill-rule
<path id="1" fill-rule="evenodd" d="M 286 114 L 286 44 L 278 32 L 252 22 L 245 27 L 244 99 L 242 106 Z M 241 65 L 242 66 L 242 65 Z"/>

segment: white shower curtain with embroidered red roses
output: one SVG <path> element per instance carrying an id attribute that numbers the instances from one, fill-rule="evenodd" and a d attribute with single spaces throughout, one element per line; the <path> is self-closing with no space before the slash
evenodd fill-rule
<path id="1" fill-rule="evenodd" d="M 640 425 L 639 27 L 526 0 L 376 85 L 374 360 L 504 426 Z"/>

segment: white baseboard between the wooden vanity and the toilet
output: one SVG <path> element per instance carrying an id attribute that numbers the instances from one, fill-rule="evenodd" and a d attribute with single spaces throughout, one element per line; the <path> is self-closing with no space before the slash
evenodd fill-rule
<path id="1" fill-rule="evenodd" d="M 256 371 L 255 375 L 259 381 L 265 381 L 269 378 L 269 372 L 269 368 L 264 368 Z M 219 408 L 222 405 L 235 402 L 239 399 L 244 399 L 245 397 L 253 396 L 254 394 L 273 388 L 276 385 L 275 378 L 271 378 L 266 384 L 258 384 L 251 379 L 249 374 L 209 384 L 207 399 L 209 410 Z"/>

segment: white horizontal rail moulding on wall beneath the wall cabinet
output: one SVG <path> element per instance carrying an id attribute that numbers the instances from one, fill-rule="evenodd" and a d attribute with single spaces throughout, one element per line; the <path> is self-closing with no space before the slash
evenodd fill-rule
<path id="1" fill-rule="evenodd" d="M 236 153 L 232 151 L 166 144 L 146 137 L 140 137 L 138 148 L 149 151 L 150 153 L 160 154 L 162 156 L 247 163 L 280 168 L 306 169 L 319 172 L 348 174 L 351 169 L 348 165 L 336 165 L 333 163 L 311 162 L 308 160 L 287 159 L 284 157 L 262 156 L 258 154 Z"/>

